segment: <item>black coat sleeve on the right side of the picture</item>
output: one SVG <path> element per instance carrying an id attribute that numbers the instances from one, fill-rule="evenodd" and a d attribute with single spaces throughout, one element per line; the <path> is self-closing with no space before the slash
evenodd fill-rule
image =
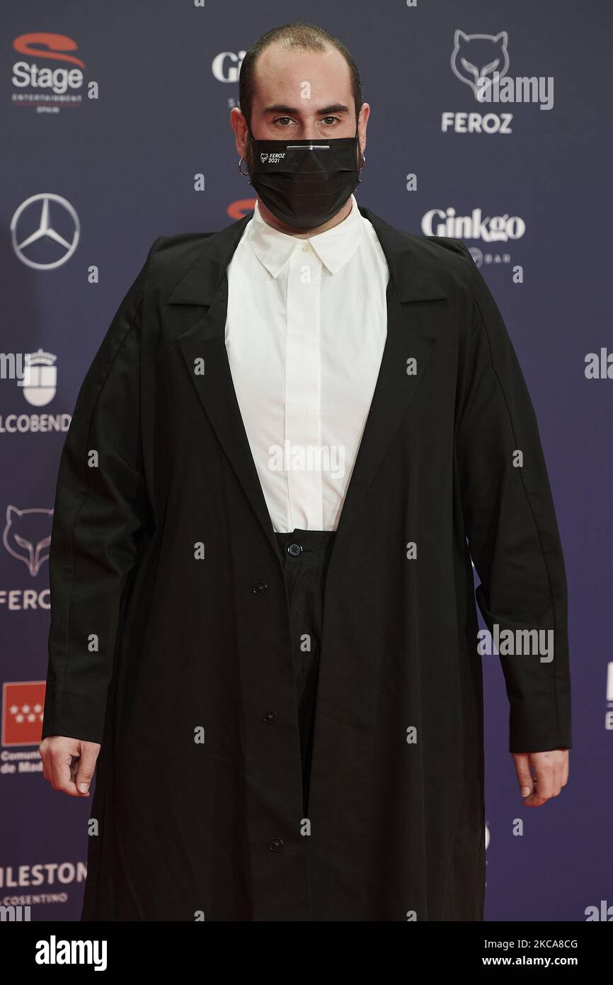
<path id="1" fill-rule="evenodd" d="M 468 549 L 480 580 L 477 604 L 492 635 L 495 624 L 500 633 L 544 630 L 542 642 L 553 644 L 552 659 L 525 645 L 523 655 L 504 654 L 499 645 L 510 752 L 570 749 L 567 582 L 539 431 L 502 315 L 462 247 L 472 318 L 460 356 L 456 462 Z"/>

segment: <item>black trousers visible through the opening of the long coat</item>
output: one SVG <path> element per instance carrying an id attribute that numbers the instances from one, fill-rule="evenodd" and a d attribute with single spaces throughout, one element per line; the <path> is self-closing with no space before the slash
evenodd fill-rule
<path id="1" fill-rule="evenodd" d="M 299 527 L 295 527 L 289 534 L 276 534 L 276 542 L 283 558 L 289 603 L 305 818 L 308 817 L 313 726 L 324 617 L 324 588 L 335 535 L 334 530 L 301 530 Z"/>

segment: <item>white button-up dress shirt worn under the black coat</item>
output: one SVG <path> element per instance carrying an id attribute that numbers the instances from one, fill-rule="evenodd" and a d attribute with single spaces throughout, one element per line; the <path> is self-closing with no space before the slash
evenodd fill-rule
<path id="1" fill-rule="evenodd" d="M 353 195 L 308 239 L 256 202 L 226 273 L 225 346 L 273 529 L 336 530 L 387 336 L 377 234 Z"/>

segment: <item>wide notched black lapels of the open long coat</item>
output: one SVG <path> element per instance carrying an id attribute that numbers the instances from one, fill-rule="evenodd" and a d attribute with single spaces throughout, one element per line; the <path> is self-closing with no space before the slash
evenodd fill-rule
<path id="1" fill-rule="evenodd" d="M 439 304 L 431 302 L 447 297 L 436 279 L 419 262 L 403 233 L 370 209 L 358 208 L 372 223 L 390 268 L 388 331 L 370 412 L 337 525 L 336 545 L 357 515 L 436 345 L 434 326 L 441 317 L 441 310 Z M 273 523 L 236 399 L 225 348 L 225 270 L 250 219 L 248 215 L 209 237 L 166 297 L 166 303 L 207 308 L 179 335 L 177 343 L 203 409 L 280 563 Z M 415 361 L 414 374 L 407 373 L 409 359 Z M 198 374 L 195 367 L 201 363 L 204 373 Z"/>

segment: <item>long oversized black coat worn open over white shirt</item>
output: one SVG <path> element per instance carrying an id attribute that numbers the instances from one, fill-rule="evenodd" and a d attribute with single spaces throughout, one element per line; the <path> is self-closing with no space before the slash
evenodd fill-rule
<path id="1" fill-rule="evenodd" d="M 249 217 L 155 240 L 82 385 L 42 735 L 102 744 L 85 920 L 481 920 L 471 557 L 492 631 L 555 630 L 551 662 L 494 657 L 510 750 L 571 746 L 564 560 L 505 325 L 460 240 L 360 212 L 388 335 L 328 570 L 308 820 L 281 559 L 224 346 Z"/>

